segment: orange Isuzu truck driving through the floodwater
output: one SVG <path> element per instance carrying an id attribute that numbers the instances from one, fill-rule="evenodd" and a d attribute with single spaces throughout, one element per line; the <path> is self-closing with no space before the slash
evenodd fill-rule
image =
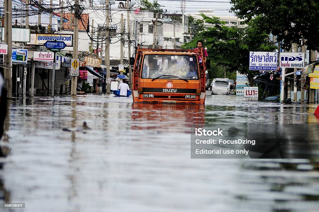
<path id="1" fill-rule="evenodd" d="M 130 58 L 133 102 L 205 103 L 207 71 L 202 50 L 138 47 L 135 54 Z"/>

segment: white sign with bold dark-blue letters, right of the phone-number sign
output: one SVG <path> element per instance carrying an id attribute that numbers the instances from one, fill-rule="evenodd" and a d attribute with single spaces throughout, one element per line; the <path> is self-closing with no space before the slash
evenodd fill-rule
<path id="1" fill-rule="evenodd" d="M 305 62 L 305 53 L 280 52 L 280 67 L 302 68 Z"/>

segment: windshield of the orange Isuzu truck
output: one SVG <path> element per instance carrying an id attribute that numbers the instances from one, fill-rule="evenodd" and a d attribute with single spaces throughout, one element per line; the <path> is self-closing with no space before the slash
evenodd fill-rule
<path id="1" fill-rule="evenodd" d="M 146 55 L 142 67 L 142 78 L 198 80 L 197 57 L 181 55 Z"/>

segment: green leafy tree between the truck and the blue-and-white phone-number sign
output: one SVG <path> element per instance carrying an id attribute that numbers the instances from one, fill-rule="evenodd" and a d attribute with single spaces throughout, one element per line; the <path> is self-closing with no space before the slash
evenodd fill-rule
<path id="1" fill-rule="evenodd" d="M 209 18 L 201 14 L 206 23 L 212 24 L 207 30 L 198 33 L 195 38 L 185 43 L 182 48 L 190 49 L 197 45 L 197 40 L 203 40 L 207 47 L 208 58 L 226 71 L 247 76 L 250 86 L 253 86 L 254 76 L 259 71 L 249 70 L 249 51 L 273 51 L 276 46 L 268 39 L 266 32 L 257 33 L 252 26 L 238 28 L 227 27 L 225 22 L 217 17 Z"/>

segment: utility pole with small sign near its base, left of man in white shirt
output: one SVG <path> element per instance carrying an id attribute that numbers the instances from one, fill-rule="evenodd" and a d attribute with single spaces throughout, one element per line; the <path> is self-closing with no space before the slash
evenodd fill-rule
<path id="1" fill-rule="evenodd" d="M 109 10 L 110 10 L 110 5 L 109 1 L 105 0 L 105 16 L 106 16 L 106 31 L 105 31 L 105 65 L 106 65 L 106 77 L 110 78 L 110 41 L 109 41 Z M 106 93 L 111 93 L 111 84 L 107 84 L 106 88 Z"/>

